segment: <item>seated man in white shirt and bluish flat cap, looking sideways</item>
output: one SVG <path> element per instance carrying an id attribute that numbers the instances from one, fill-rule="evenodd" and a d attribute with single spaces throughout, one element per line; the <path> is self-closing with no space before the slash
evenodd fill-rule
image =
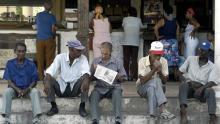
<path id="1" fill-rule="evenodd" d="M 58 113 L 55 94 L 58 97 L 76 97 L 81 93 L 79 114 L 87 116 L 85 103 L 88 100 L 90 68 L 86 56 L 82 55 L 85 47 L 79 40 L 67 42 L 68 53 L 56 56 L 53 63 L 46 70 L 44 91 L 51 109 L 47 113 L 52 116 Z"/>

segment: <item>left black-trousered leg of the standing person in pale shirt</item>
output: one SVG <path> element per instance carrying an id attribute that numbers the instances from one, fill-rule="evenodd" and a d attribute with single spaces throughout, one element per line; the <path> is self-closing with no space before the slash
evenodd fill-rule
<path id="1" fill-rule="evenodd" d="M 129 60 L 130 60 L 130 49 L 129 46 L 123 46 L 123 58 L 124 58 L 124 68 L 129 78 Z"/>

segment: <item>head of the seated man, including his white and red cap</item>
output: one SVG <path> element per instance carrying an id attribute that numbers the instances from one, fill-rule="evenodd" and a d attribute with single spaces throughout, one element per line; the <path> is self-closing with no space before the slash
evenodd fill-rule
<path id="1" fill-rule="evenodd" d="M 154 62 L 155 60 L 160 60 L 161 56 L 163 56 L 163 44 L 160 41 L 154 41 L 151 43 L 150 48 L 150 60 Z"/>

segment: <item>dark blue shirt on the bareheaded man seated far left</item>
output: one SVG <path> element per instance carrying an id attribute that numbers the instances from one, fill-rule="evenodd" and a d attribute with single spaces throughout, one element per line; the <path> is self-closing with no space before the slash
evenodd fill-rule
<path id="1" fill-rule="evenodd" d="M 17 63 L 17 58 L 8 60 L 3 78 L 12 81 L 15 86 L 26 89 L 32 82 L 38 81 L 35 64 L 25 59 L 23 64 Z"/>

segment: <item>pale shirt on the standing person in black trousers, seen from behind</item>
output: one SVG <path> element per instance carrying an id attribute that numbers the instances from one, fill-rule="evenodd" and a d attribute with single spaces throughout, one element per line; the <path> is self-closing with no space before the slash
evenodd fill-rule
<path id="1" fill-rule="evenodd" d="M 139 46 L 140 28 L 143 27 L 141 19 L 138 17 L 123 18 L 122 27 L 124 28 L 123 45 Z"/>

